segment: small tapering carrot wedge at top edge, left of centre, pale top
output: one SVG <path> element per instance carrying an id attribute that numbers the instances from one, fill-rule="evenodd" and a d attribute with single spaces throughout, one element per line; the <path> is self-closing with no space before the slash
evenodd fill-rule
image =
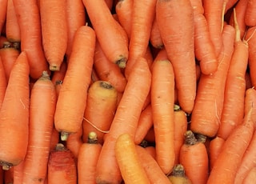
<path id="1" fill-rule="evenodd" d="M 134 0 L 122 0 L 118 1 L 115 6 L 115 12 L 118 15 L 118 21 L 123 29 L 126 31 L 129 40 L 131 33 L 133 2 Z"/>

